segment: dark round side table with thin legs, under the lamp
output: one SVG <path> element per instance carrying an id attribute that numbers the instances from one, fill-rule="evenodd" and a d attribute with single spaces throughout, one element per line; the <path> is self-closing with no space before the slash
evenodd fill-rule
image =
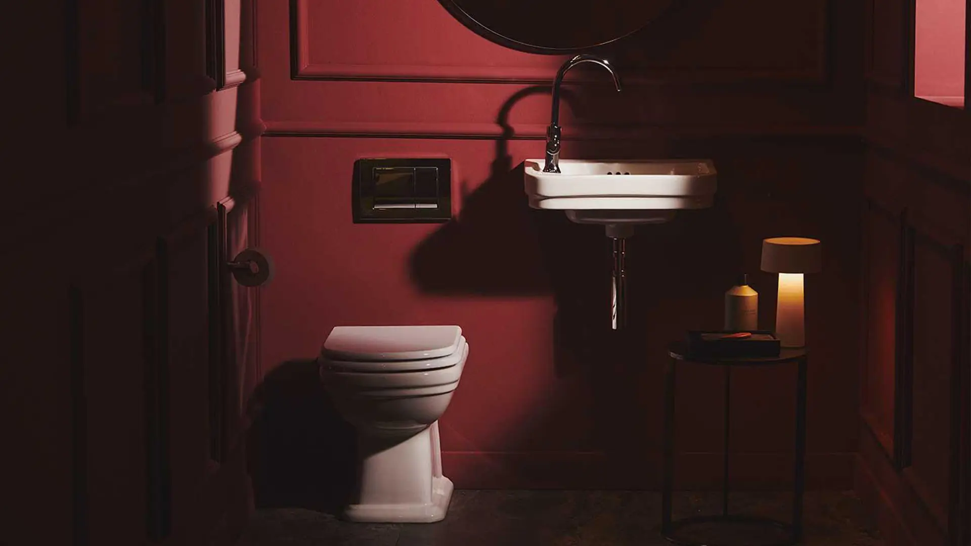
<path id="1" fill-rule="evenodd" d="M 688 354 L 685 342 L 668 346 L 667 368 L 664 374 L 664 476 L 661 485 L 661 535 L 669 542 L 684 546 L 719 546 L 718 543 L 686 542 L 674 537 L 680 529 L 698 524 L 765 525 L 787 531 L 788 538 L 765 546 L 790 546 L 802 539 L 802 497 L 805 488 L 806 460 L 806 368 L 809 354 L 805 349 L 783 349 L 778 357 L 695 357 Z M 674 395 L 675 370 L 679 362 L 720 365 L 724 368 L 724 442 L 723 481 L 721 489 L 721 513 L 694 516 L 681 520 L 671 519 L 671 490 L 674 486 Z M 728 431 L 731 369 L 735 366 L 766 366 L 795 362 L 798 374 L 795 385 L 795 464 L 793 465 L 792 521 L 781 522 L 771 518 L 730 514 L 728 512 Z"/>

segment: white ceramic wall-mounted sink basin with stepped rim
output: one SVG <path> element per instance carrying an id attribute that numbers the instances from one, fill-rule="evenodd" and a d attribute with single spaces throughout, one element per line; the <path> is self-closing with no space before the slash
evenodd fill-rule
<path id="1" fill-rule="evenodd" d="M 560 159 L 559 173 L 526 159 L 525 190 L 534 209 L 566 211 L 572 222 L 667 222 L 674 211 L 712 206 L 717 188 L 709 159 Z"/>

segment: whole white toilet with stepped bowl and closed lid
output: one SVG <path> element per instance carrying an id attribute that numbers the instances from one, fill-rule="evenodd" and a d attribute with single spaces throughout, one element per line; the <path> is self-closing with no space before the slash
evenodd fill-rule
<path id="1" fill-rule="evenodd" d="M 357 430 L 352 522 L 445 518 L 438 418 L 449 407 L 469 345 L 458 326 L 336 326 L 320 352 L 320 380 Z"/>

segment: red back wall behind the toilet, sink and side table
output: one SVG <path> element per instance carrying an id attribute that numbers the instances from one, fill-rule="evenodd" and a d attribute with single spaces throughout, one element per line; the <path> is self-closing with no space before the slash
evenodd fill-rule
<path id="1" fill-rule="evenodd" d="M 522 191 L 561 57 L 488 43 L 435 0 L 260 4 L 260 225 L 278 265 L 262 292 L 264 368 L 314 358 L 335 324 L 460 324 L 471 353 L 441 421 L 458 487 L 656 487 L 665 345 L 719 327 L 740 272 L 771 327 L 761 239 L 819 237 L 809 485 L 849 487 L 862 167 L 851 4 L 688 8 L 612 54 L 623 92 L 579 70 L 564 86 L 564 157 L 711 157 L 720 171 L 714 208 L 630 240 L 623 333 L 609 329 L 602 229 L 530 210 Z M 453 222 L 352 223 L 354 160 L 428 155 L 452 158 Z M 721 374 L 686 368 L 679 381 L 679 479 L 717 484 Z M 734 475 L 786 487 L 793 370 L 734 382 Z"/>

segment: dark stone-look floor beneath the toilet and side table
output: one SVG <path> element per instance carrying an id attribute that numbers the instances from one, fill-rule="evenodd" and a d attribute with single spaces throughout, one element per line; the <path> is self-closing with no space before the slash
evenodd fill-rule
<path id="1" fill-rule="evenodd" d="M 731 511 L 788 520 L 789 495 L 733 494 Z M 674 517 L 720 511 L 720 494 L 681 494 Z M 351 524 L 299 508 L 257 510 L 246 546 L 653 546 L 660 495 L 652 492 L 456 491 L 437 524 Z M 805 498 L 806 546 L 883 546 L 852 493 L 810 492 Z M 776 530 L 698 528 L 683 538 L 758 546 Z"/>

